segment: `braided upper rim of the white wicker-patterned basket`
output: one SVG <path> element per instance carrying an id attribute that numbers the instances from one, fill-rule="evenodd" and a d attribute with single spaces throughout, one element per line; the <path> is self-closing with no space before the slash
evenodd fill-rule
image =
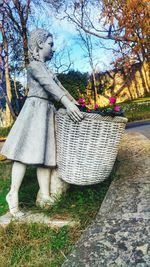
<path id="1" fill-rule="evenodd" d="M 80 111 L 81 112 L 81 111 Z M 125 117 L 121 117 L 121 116 L 115 116 L 115 117 L 111 117 L 111 116 L 102 116 L 100 114 L 95 114 L 95 113 L 86 113 L 86 112 L 81 112 L 84 115 L 84 119 L 95 119 L 95 120 L 100 120 L 100 121 L 110 121 L 110 122 L 116 122 L 116 123 L 127 123 L 128 119 Z M 56 116 L 59 115 L 67 115 L 67 110 L 64 108 L 60 108 L 58 111 L 56 111 Z"/>

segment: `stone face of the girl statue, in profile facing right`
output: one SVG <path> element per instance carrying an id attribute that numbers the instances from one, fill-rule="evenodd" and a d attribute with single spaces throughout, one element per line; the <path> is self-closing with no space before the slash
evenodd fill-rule
<path id="1" fill-rule="evenodd" d="M 50 60 L 53 57 L 54 52 L 55 50 L 54 50 L 53 38 L 49 36 L 42 47 L 42 54 L 45 61 Z"/>

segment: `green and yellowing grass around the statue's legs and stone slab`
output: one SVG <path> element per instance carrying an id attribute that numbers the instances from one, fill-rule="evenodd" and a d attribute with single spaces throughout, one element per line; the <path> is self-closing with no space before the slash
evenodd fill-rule
<path id="1" fill-rule="evenodd" d="M 0 215 L 7 210 L 5 196 L 10 187 L 11 163 L 0 163 Z M 78 240 L 82 231 L 95 218 L 106 195 L 112 176 L 101 184 L 74 186 L 44 213 L 53 218 L 73 218 L 80 226 L 51 229 L 40 224 L 11 223 L 0 227 L 0 266 L 59 267 Z M 35 207 L 38 191 L 36 169 L 28 167 L 20 190 L 20 203 L 24 210 L 43 212 Z"/>

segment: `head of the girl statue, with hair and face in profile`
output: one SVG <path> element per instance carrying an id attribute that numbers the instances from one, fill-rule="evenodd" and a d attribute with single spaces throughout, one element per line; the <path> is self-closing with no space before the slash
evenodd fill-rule
<path id="1" fill-rule="evenodd" d="M 29 36 L 29 55 L 31 60 L 50 60 L 53 56 L 53 36 L 46 30 L 36 28 Z"/>

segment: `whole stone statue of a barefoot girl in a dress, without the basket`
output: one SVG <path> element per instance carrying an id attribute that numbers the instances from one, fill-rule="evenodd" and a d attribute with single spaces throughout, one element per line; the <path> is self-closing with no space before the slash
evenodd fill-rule
<path id="1" fill-rule="evenodd" d="M 56 110 L 53 100 L 64 105 L 74 122 L 83 118 L 75 99 L 45 64 L 54 53 L 52 34 L 43 29 L 33 30 L 29 38 L 29 52 L 28 97 L 1 151 L 14 161 L 11 188 L 6 201 L 10 214 L 16 218 L 23 216 L 19 210 L 18 192 L 27 164 L 37 166 L 37 205 L 43 207 L 53 204 L 53 195 L 62 193 L 64 188 L 64 182 L 57 175 Z"/>

